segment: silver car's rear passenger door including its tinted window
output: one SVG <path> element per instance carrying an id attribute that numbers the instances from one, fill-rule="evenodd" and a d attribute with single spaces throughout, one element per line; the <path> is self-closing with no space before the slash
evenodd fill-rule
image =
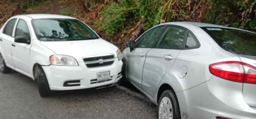
<path id="1" fill-rule="evenodd" d="M 143 68 L 142 89 L 152 98 L 155 96 L 161 79 L 184 48 L 186 35 L 187 30 L 169 26 L 156 48 L 147 53 Z"/>

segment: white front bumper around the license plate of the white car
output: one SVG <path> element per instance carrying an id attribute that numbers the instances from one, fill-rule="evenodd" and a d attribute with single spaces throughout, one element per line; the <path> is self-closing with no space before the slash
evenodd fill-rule
<path id="1" fill-rule="evenodd" d="M 78 62 L 79 66 L 42 66 L 51 90 L 75 90 L 100 87 L 116 83 L 122 78 L 122 61 L 115 61 L 112 65 L 87 68 L 84 62 Z M 110 71 L 111 79 L 97 82 L 97 72 Z M 71 81 L 71 82 L 70 82 Z M 80 83 L 73 83 L 80 82 Z M 64 84 L 77 84 L 78 86 L 65 86 Z M 79 85 L 80 84 L 80 85 Z"/>

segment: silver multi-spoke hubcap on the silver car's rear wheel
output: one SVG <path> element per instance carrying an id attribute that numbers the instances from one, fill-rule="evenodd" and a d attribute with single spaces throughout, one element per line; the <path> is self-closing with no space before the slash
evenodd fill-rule
<path id="1" fill-rule="evenodd" d="M 159 119 L 172 119 L 172 103 L 167 97 L 164 97 L 159 105 Z"/>

